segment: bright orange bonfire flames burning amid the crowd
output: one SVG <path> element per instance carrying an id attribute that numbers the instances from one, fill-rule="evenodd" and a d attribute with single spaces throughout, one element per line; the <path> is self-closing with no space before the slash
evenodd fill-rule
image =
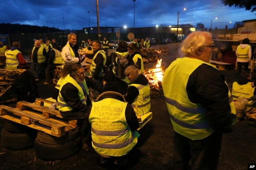
<path id="1" fill-rule="evenodd" d="M 162 86 L 163 81 L 163 74 L 165 71 L 165 67 L 161 66 L 162 59 L 158 59 L 156 66 L 151 69 L 145 70 L 145 77 L 148 79 L 148 84 L 150 88 L 155 88 L 157 91 L 159 91 L 159 87 Z"/>

